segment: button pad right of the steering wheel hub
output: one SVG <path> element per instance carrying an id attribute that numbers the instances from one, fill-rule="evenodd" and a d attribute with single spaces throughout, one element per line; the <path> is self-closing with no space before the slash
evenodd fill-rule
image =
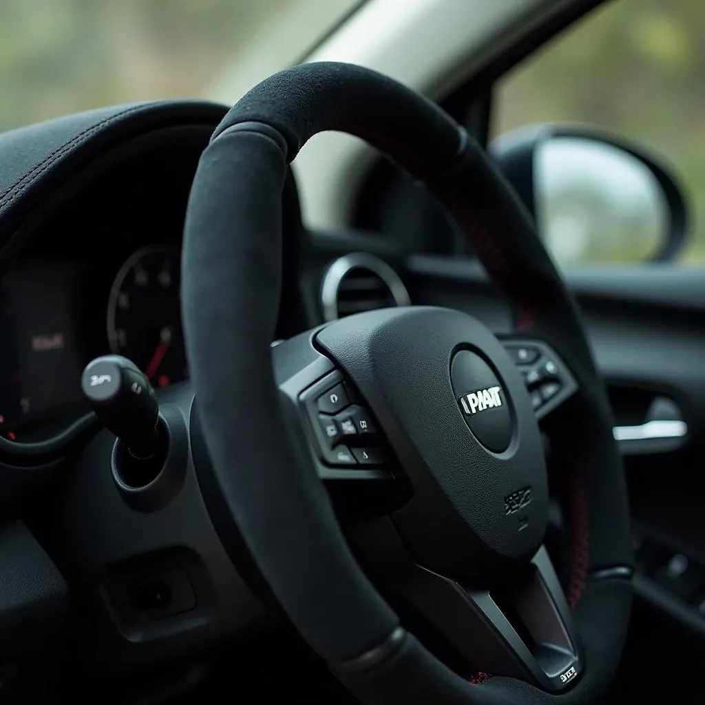
<path id="1" fill-rule="evenodd" d="M 527 386 L 537 420 L 554 412 L 577 391 L 575 377 L 556 350 L 539 338 L 498 336 Z"/>

